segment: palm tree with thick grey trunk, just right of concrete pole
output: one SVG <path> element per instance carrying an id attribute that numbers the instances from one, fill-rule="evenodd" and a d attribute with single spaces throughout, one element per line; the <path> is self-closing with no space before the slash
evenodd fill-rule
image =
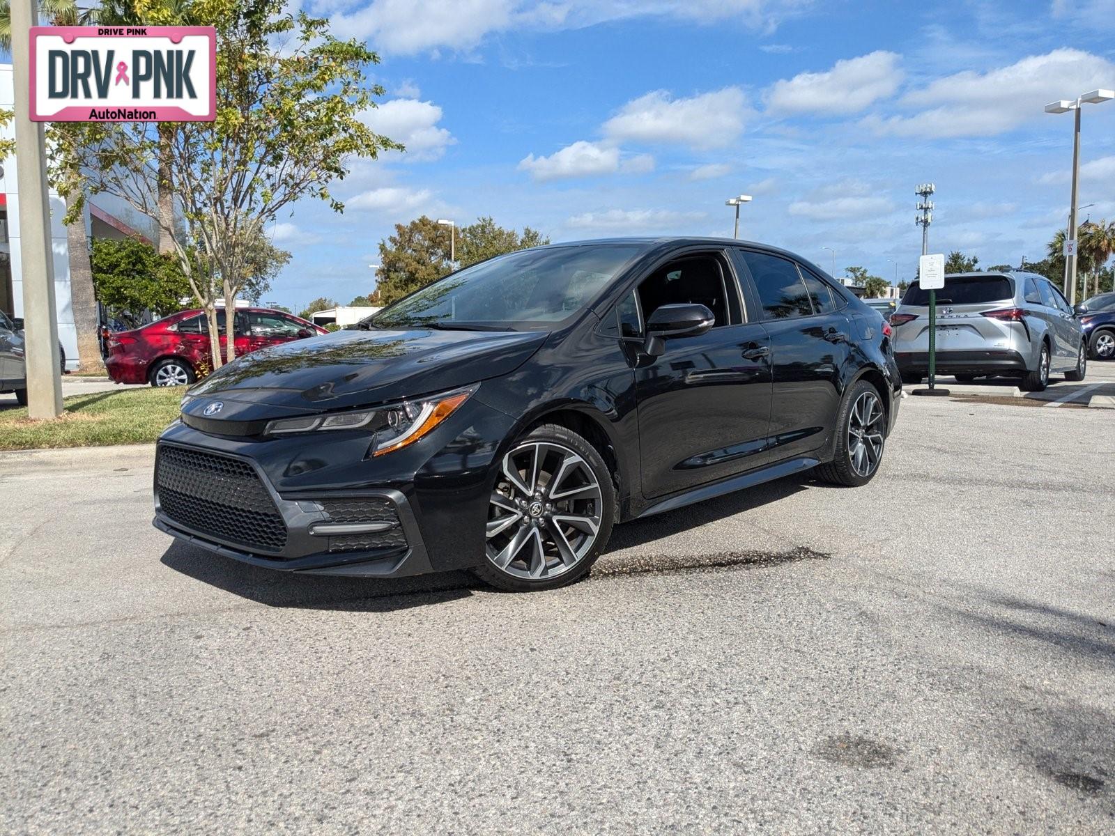
<path id="1" fill-rule="evenodd" d="M 88 26 L 97 21 L 98 9 L 78 6 L 75 0 L 39 0 L 39 16 L 52 26 Z M 0 48 L 11 52 L 11 3 L 0 0 Z M 72 205 L 72 195 L 65 195 L 66 208 Z M 70 307 L 74 311 L 74 330 L 77 332 L 77 356 L 81 371 L 104 372 L 100 342 L 97 332 L 97 294 L 93 288 L 93 268 L 89 264 L 89 234 L 85 217 L 78 217 L 66 227 L 70 269 Z"/>

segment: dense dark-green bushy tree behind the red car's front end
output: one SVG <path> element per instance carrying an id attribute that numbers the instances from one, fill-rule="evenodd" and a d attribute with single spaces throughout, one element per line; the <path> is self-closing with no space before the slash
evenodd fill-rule
<path id="1" fill-rule="evenodd" d="M 165 317 L 192 295 L 178 260 L 138 237 L 95 239 L 90 262 L 97 299 L 108 308 Z"/>

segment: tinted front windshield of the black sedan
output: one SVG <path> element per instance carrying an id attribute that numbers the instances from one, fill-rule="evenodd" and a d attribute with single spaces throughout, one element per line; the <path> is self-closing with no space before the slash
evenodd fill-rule
<path id="1" fill-rule="evenodd" d="M 552 328 L 639 252 L 631 245 L 522 250 L 466 268 L 369 317 L 374 328 Z"/>

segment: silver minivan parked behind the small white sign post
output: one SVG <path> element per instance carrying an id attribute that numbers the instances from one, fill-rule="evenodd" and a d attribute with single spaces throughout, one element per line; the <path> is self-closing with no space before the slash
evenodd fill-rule
<path id="1" fill-rule="evenodd" d="M 902 380 L 929 373 L 929 291 L 910 285 L 891 315 Z M 954 273 L 937 291 L 937 371 L 960 382 L 1015 377 L 1041 391 L 1051 372 L 1084 380 L 1087 350 L 1061 292 L 1037 273 Z"/>

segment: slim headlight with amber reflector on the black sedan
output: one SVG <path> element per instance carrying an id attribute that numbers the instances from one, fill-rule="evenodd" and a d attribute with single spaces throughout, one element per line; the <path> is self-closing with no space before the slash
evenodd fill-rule
<path id="1" fill-rule="evenodd" d="M 415 398 L 375 409 L 349 412 L 308 415 L 302 418 L 279 418 L 270 421 L 264 435 L 282 436 L 291 432 L 320 430 L 365 429 L 375 435 L 372 455 L 382 456 L 403 449 L 429 434 L 437 425 L 453 415 L 457 407 L 476 391 L 475 386 L 452 392 Z"/>

